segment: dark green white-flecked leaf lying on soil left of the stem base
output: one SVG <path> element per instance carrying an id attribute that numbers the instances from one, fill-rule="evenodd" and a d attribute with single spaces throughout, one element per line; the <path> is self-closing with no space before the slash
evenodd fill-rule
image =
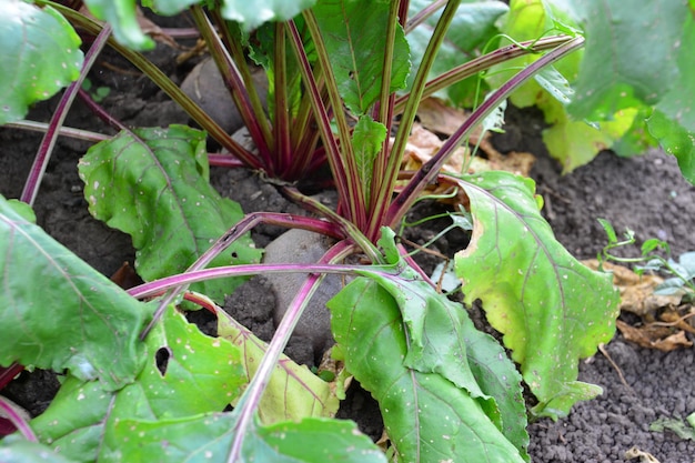
<path id="1" fill-rule="evenodd" d="M 242 217 L 238 203 L 208 182 L 203 132 L 183 127 L 135 129 L 90 148 L 80 178 L 92 215 L 132 236 L 145 281 L 183 272 Z M 250 263 L 260 251 L 249 236 L 210 266 Z M 243 279 L 193 284 L 218 302 Z"/>

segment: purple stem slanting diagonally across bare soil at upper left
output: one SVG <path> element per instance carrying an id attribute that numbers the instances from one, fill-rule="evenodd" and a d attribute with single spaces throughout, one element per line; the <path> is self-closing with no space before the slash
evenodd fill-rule
<path id="1" fill-rule="evenodd" d="M 39 185 L 41 184 L 41 179 L 43 178 L 43 173 L 46 172 L 48 162 L 51 159 L 51 153 L 53 152 L 53 148 L 56 147 L 56 140 L 58 140 L 58 133 L 63 122 L 66 121 L 66 117 L 68 115 L 68 111 L 70 110 L 70 107 L 74 101 L 74 97 L 80 90 L 80 87 L 82 87 L 84 77 L 92 68 L 92 64 L 105 46 L 110 34 L 111 27 L 107 24 L 101 30 L 101 32 L 99 32 L 99 36 L 97 36 L 97 39 L 94 39 L 94 42 L 87 52 L 87 56 L 84 57 L 84 63 L 82 64 L 82 70 L 80 71 L 78 80 L 75 80 L 68 87 L 62 98 L 60 99 L 60 102 L 58 103 L 56 113 L 53 113 L 53 117 L 51 118 L 51 122 L 49 123 L 49 128 L 46 134 L 43 135 L 43 140 L 41 140 L 41 145 L 39 147 L 37 157 L 33 160 L 33 165 L 31 165 L 29 178 L 24 183 L 24 190 L 22 191 L 22 195 L 20 198 L 21 201 L 26 202 L 29 205 L 33 205 L 33 202 L 37 199 Z"/>

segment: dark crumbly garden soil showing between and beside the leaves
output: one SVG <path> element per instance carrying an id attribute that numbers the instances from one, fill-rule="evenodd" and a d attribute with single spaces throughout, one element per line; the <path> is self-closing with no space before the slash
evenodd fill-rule
<path id="1" fill-rule="evenodd" d="M 165 72 L 181 82 L 191 64 L 174 67 L 172 50 L 159 47 L 154 54 Z M 90 78 L 95 84 L 112 89 L 104 107 L 131 125 L 165 125 L 187 122 L 182 114 L 145 79 L 131 74 L 131 68 L 108 54 L 104 59 L 128 72 L 113 72 L 103 62 Z M 56 101 L 39 104 L 30 119 L 48 120 Z M 112 133 L 81 103 L 75 103 L 67 125 Z M 591 259 L 606 244 L 606 236 L 596 218 L 610 220 L 621 233 L 635 231 L 638 240 L 661 238 L 672 245 L 674 254 L 695 250 L 695 188 L 679 174 L 675 160 L 657 150 L 645 155 L 622 159 L 611 152 L 601 153 L 594 162 L 562 177 L 540 139 L 542 118 L 534 111 L 511 109 L 507 132 L 495 139 L 502 150 L 528 151 L 536 155 L 532 177 L 545 200 L 544 213 L 556 238 L 578 259 Z M 0 193 L 19 198 L 41 137 L 18 130 L 0 129 Z M 77 162 L 89 148 L 84 142 L 61 138 L 46 172 L 36 204 L 38 223 L 53 238 L 107 275 L 123 262 L 133 261 L 133 249 L 127 235 L 92 219 L 81 195 Z M 221 193 L 239 201 L 244 211 L 298 213 L 273 185 L 245 170 L 213 169 L 213 184 Z M 442 210 L 437 203 L 417 205 L 412 218 L 426 217 Z M 427 229 L 410 230 L 406 238 L 424 243 L 449 223 L 434 221 Z M 259 246 L 266 245 L 282 233 L 275 227 L 258 227 L 252 238 Z M 467 242 L 465 233 L 455 231 L 437 240 L 434 248 L 451 255 Z M 636 248 L 635 248 L 636 250 Z M 636 251 L 632 251 L 633 253 Z M 433 261 L 420 262 L 431 271 Z M 270 339 L 274 324 L 274 300 L 263 278 L 251 280 L 234 294 L 228 310 L 262 339 Z M 626 315 L 623 315 L 626 316 Z M 691 336 L 692 340 L 692 336 Z M 598 384 L 603 395 L 578 403 L 568 417 L 552 422 L 540 420 L 530 426 L 530 452 L 534 462 L 626 462 L 625 452 L 635 446 L 662 463 L 695 462 L 695 442 L 675 433 L 649 431 L 659 417 L 684 419 L 695 412 L 692 373 L 693 348 L 662 353 L 637 348 L 621 334 L 605 348 L 608 359 L 597 353 L 583 361 L 580 380 Z M 315 352 L 306 340 L 294 339 L 288 354 L 313 364 Z M 617 370 L 616 369 L 620 369 Z M 622 372 L 622 373 L 621 373 Z M 624 376 L 624 384 L 621 380 Z M 50 403 L 58 383 L 47 372 L 22 373 L 4 391 L 11 400 L 32 415 Z M 361 429 L 374 439 L 382 432 L 379 409 L 370 394 L 353 386 L 349 391 L 340 417 L 359 421 Z M 637 460 L 632 460 L 637 461 Z"/>

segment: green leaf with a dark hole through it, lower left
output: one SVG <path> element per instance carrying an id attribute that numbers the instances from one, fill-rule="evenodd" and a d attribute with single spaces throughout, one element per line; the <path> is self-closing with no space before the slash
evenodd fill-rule
<path id="1" fill-rule="evenodd" d="M 144 369 L 119 391 L 107 393 L 99 382 L 68 378 L 48 410 L 31 423 L 40 439 L 72 459 L 112 459 L 119 453 L 113 426 L 121 420 L 218 412 L 240 395 L 245 378 L 239 351 L 225 340 L 202 334 L 172 308 L 145 343 Z"/>

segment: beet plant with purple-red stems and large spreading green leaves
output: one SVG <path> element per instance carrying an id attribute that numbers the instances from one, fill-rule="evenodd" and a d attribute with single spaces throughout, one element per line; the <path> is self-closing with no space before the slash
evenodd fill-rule
<path id="1" fill-rule="evenodd" d="M 0 364 L 64 372 L 43 414 L 26 423 L 10 412 L 21 433 L 2 440 L 2 460 L 30 461 L 53 452 L 66 462 L 523 462 L 528 461 L 528 415 L 564 416 L 574 403 L 601 392 L 577 381 L 577 364 L 613 335 L 618 296 L 611 276 L 585 268 L 554 239 L 532 180 L 497 171 L 442 171 L 474 128 L 490 127 L 510 95 L 528 95 L 528 85 L 537 84 L 547 91 L 544 101 L 557 118 L 573 104 L 592 119 L 626 111 L 620 101 L 629 100 L 643 115 L 643 107 L 658 103 L 651 129 L 693 179 L 689 105 L 674 117 L 678 102 L 673 94 L 651 92 L 658 79 L 633 88 L 622 83 L 625 69 L 608 83 L 586 87 L 587 76 L 600 74 L 594 60 L 603 59 L 590 56 L 596 50 L 590 32 L 603 18 L 592 10 L 594 2 L 581 12 L 533 3 L 535 19 L 546 27 L 534 30 L 530 41 L 498 48 L 495 23 L 503 13 L 512 37 L 532 29 L 534 17 L 523 2 L 511 2 L 508 12 L 500 2 L 460 1 L 147 2 L 163 14 L 190 8 L 255 151 L 235 142 L 133 50 L 149 39 L 138 28 L 132 2 L 85 3 L 107 26 L 58 3 L 14 0 L 10 20 L 0 23 L 10 43 L 4 50 L 14 53 L 4 61 L 16 64 L 0 82 L 9 90 L 0 93 L 3 123 L 31 127 L 18 121 L 28 105 L 72 82 L 46 128 L 23 202 L 0 202 L 0 334 L 8 340 Z M 606 8 L 631 13 L 618 3 Z M 677 26 L 668 37 L 689 37 L 691 7 L 663 7 L 666 22 Z M 584 46 L 583 24 L 588 44 L 578 68 L 581 91 L 572 100 L 557 69 L 577 69 L 571 60 Z M 472 32 L 462 39 L 464 26 Z M 73 27 L 95 37 L 84 59 Z M 626 29 L 612 30 L 631 37 Z M 547 31 L 561 34 L 542 38 Z M 21 48 L 19 37 L 38 44 Z M 477 50 L 474 59 L 457 56 L 464 48 L 455 46 L 464 39 L 466 50 Z M 204 131 L 125 128 L 108 118 L 79 90 L 105 44 L 138 66 Z M 493 50 L 482 53 L 487 47 Z M 674 69 L 685 76 L 692 58 L 669 53 Z M 249 58 L 271 82 L 268 111 L 252 85 Z M 446 58 L 445 70 L 440 58 Z M 637 72 L 632 66 L 629 72 Z M 504 82 L 497 81 L 502 77 Z M 613 87 L 625 97 L 618 93 L 618 102 L 606 109 Z M 490 91 L 480 98 L 477 91 L 485 88 Z M 402 171 L 416 109 L 435 93 L 475 109 L 432 160 L 415 172 Z M 28 204 L 58 133 L 104 139 L 62 128 L 75 94 L 120 130 L 94 144 L 79 169 L 90 212 L 132 238 L 135 268 L 145 283 L 128 292 L 32 223 Z M 596 113 L 588 112 L 591 107 Z M 627 125 L 636 127 L 636 114 Z M 209 157 L 208 134 L 229 154 Z M 210 185 L 210 160 L 263 171 L 314 215 L 244 214 Z M 294 183 L 319 178 L 322 165 L 338 192 L 335 209 Z M 467 199 L 472 236 L 456 254 L 454 272 L 465 303 L 482 301 L 504 345 L 477 331 L 463 304 L 439 293 L 395 236 L 405 213 L 435 182 Z M 315 263 L 260 263 L 261 250 L 248 234 L 260 223 L 322 233 L 335 244 Z M 365 263 L 344 263 L 355 255 Z M 306 275 L 269 344 L 219 308 L 245 278 L 264 273 Z M 331 382 L 282 355 L 326 274 L 350 280 L 328 304 L 336 342 L 332 356 L 344 365 Z M 191 305 L 216 314 L 218 338 L 187 322 L 179 308 Z M 349 376 L 380 404 L 385 452 L 354 423 L 334 419 Z M 534 396 L 528 409 L 524 384 Z"/>

